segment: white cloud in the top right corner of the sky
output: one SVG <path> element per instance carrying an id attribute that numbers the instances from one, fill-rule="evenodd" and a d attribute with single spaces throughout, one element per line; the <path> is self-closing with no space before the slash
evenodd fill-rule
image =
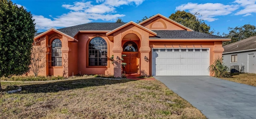
<path id="1" fill-rule="evenodd" d="M 256 0 L 236 0 L 234 3 L 237 3 L 244 8 L 236 12 L 235 15 L 245 14 L 244 16 L 250 16 L 252 15 L 250 13 L 256 13 Z"/>

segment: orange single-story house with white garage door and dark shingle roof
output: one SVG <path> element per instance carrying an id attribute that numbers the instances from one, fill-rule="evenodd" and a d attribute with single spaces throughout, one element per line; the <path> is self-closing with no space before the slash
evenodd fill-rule
<path id="1" fill-rule="evenodd" d="M 46 46 L 47 62 L 39 75 L 126 74 L 209 76 L 208 66 L 222 56 L 222 41 L 161 14 L 135 23 L 86 23 L 49 29 L 34 37 Z M 47 47 L 50 46 L 50 47 Z M 114 56 L 113 60 L 110 58 Z M 122 55 L 124 60 L 121 60 Z M 112 63 L 113 62 L 113 63 Z M 65 73 L 64 73 L 65 72 Z"/>

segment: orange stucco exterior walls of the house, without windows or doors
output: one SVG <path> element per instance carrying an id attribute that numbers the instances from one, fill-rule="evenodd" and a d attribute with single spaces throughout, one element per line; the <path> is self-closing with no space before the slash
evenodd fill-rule
<path id="1" fill-rule="evenodd" d="M 42 51 L 44 59 L 46 59 L 45 66 L 42 68 L 40 75 L 43 76 L 72 76 L 73 74 L 106 74 L 114 75 L 116 77 L 122 76 L 121 59 L 116 60 L 124 54 L 122 46 L 127 41 L 133 41 L 138 46 L 138 57 L 136 66 L 138 67 L 138 74 L 151 75 L 152 74 L 152 48 L 208 48 L 210 49 L 210 61 L 221 57 L 224 49 L 222 48 L 222 41 L 202 40 L 202 39 L 159 39 L 158 41 L 150 40 L 150 36 L 154 36 L 154 32 L 150 30 L 188 30 L 182 25 L 171 20 L 166 20 L 161 16 L 154 17 L 140 25 L 130 23 L 122 27 L 118 27 L 113 32 L 107 33 L 103 31 L 88 31 L 80 32 L 74 38 L 60 33 L 56 30 L 48 31 L 41 36 L 43 39 L 41 45 L 45 47 Z M 94 37 L 102 37 L 108 46 L 108 61 L 107 66 L 89 66 L 88 64 L 88 44 Z M 62 41 L 62 66 L 51 66 L 51 45 L 54 39 Z M 114 63 L 110 61 L 110 57 L 114 55 Z M 144 57 L 148 60 L 144 60 Z M 211 74 L 211 73 L 210 73 Z M 33 75 L 31 72 L 28 75 Z M 211 74 L 212 75 L 212 74 Z"/>

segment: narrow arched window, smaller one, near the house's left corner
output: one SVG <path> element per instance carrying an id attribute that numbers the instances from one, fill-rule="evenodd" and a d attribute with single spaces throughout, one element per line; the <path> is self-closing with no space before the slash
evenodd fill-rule
<path id="1" fill-rule="evenodd" d="M 52 41 L 52 66 L 62 66 L 62 52 L 60 39 Z"/>

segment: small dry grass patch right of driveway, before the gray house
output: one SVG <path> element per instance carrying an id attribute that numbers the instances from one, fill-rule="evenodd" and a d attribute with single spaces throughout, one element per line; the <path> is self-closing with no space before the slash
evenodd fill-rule
<path id="1" fill-rule="evenodd" d="M 256 86 L 256 74 L 242 73 L 238 75 L 233 75 L 231 78 L 223 78 L 223 79 L 233 81 L 233 82 L 238 82 L 241 84 Z"/>

